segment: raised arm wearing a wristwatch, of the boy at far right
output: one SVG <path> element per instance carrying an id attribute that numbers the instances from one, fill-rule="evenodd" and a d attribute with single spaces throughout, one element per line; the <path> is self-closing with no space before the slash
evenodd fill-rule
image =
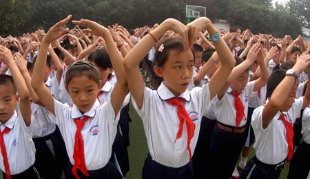
<path id="1" fill-rule="evenodd" d="M 310 55 L 304 53 L 298 57 L 296 64 L 293 66 L 293 70 L 296 72 L 296 74 L 299 75 L 306 69 L 309 63 Z M 276 116 L 277 112 L 281 109 L 289 95 L 292 95 L 291 89 L 295 83 L 296 78 L 294 76 L 285 76 L 285 78 L 279 83 L 276 89 L 274 89 L 271 97 L 269 98 L 269 102 L 262 110 L 262 127 L 264 129 L 268 127 L 269 122 L 274 116 Z"/>

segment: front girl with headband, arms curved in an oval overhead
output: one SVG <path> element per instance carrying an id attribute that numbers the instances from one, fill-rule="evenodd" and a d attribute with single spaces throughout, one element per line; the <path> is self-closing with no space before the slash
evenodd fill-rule
<path id="1" fill-rule="evenodd" d="M 68 32 L 68 29 L 61 29 L 70 18 L 71 15 L 56 23 L 45 35 L 34 65 L 32 86 L 43 105 L 56 116 L 54 123 L 59 126 L 70 159 L 70 169 L 66 178 L 122 178 L 121 173 L 109 160 L 119 111 L 127 94 L 127 81 L 121 63 L 122 56 L 110 32 L 93 21 L 72 21 L 76 25 L 90 28 L 94 35 L 103 36 L 107 43 L 107 51 L 111 54 L 112 65 L 118 74 L 110 101 L 100 105 L 97 100 L 99 71 L 92 63 L 86 61 L 73 63 L 65 74 L 65 87 L 74 101 L 72 107 L 56 101 L 44 84 L 43 69 L 48 45 Z"/>

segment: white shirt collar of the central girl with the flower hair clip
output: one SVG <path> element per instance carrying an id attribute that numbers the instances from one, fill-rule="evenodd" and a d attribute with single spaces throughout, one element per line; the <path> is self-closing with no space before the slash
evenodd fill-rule
<path id="1" fill-rule="evenodd" d="M 168 100 L 174 97 L 183 98 L 185 101 L 191 101 L 191 96 L 189 95 L 189 91 L 186 89 L 185 92 L 180 94 L 180 96 L 175 96 L 162 82 L 161 85 L 157 89 L 157 94 L 162 100 Z"/>

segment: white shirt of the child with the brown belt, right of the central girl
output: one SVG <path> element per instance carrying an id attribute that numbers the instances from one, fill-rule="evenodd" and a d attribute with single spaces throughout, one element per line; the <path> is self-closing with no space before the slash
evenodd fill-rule
<path id="1" fill-rule="evenodd" d="M 247 108 L 249 107 L 249 96 L 253 93 L 255 81 L 247 83 L 247 87 L 243 89 L 239 98 L 245 106 L 245 116 L 242 118 L 238 127 L 242 127 L 247 123 Z M 234 105 L 235 96 L 230 94 L 232 89 L 229 87 L 227 92 L 219 100 L 216 96 L 216 120 L 225 125 L 236 127 L 236 107 Z"/>

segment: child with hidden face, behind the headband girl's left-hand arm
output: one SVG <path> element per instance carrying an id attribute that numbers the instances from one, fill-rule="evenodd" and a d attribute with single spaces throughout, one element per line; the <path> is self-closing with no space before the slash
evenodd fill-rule
<path id="1" fill-rule="evenodd" d="M 37 56 L 34 57 L 33 63 L 37 61 Z M 32 98 L 31 109 L 34 116 L 32 121 L 32 140 L 36 147 L 36 161 L 34 167 L 38 170 L 41 178 L 61 178 L 63 170 L 67 167 L 68 157 L 65 151 L 65 143 L 61 137 L 61 133 L 52 121 L 54 116 L 42 106 L 37 94 L 31 86 L 32 69 L 28 72 L 25 65 L 25 60 L 21 54 L 16 55 L 15 62 L 25 79 L 25 83 Z M 33 64 L 32 63 L 32 64 Z M 49 74 L 51 70 L 51 59 L 48 60 L 45 66 L 44 83 L 54 95 L 56 92 L 52 91 L 53 85 L 58 85 L 54 79 L 51 79 Z"/>

